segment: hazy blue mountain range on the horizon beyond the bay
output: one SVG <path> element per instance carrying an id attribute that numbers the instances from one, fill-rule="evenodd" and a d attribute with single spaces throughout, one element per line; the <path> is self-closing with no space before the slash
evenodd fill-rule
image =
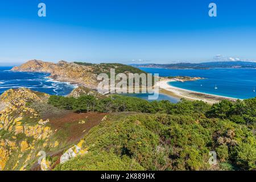
<path id="1" fill-rule="evenodd" d="M 256 68 L 255 62 L 247 61 L 218 61 L 208 63 L 176 63 L 176 64 L 131 64 L 140 68 L 167 69 L 209 69 L 209 68 Z"/>

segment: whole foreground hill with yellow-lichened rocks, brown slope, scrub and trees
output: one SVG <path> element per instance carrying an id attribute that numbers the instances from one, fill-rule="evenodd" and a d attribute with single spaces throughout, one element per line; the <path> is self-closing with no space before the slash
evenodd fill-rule
<path id="1" fill-rule="evenodd" d="M 0 170 L 256 169 L 256 98 L 210 106 L 88 91 L 3 93 Z M 214 166 L 209 151 L 217 153 Z"/>

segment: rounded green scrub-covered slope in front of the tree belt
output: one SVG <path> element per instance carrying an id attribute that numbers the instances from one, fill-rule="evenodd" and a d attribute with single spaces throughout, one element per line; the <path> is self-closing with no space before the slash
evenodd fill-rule
<path id="1" fill-rule="evenodd" d="M 126 114 L 94 127 L 84 140 L 89 153 L 55 170 L 255 169 L 255 136 L 228 120 Z M 217 166 L 208 163 L 212 150 Z"/>

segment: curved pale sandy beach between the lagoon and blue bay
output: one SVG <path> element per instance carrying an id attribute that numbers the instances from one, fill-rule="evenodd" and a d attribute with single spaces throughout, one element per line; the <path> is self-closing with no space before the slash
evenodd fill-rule
<path id="1" fill-rule="evenodd" d="M 209 104 L 214 104 L 221 100 L 230 100 L 230 101 L 237 100 L 237 98 L 223 97 L 223 96 L 217 96 L 213 94 L 206 94 L 206 93 L 177 88 L 168 84 L 168 82 L 172 82 L 172 81 L 176 81 L 176 80 L 164 79 L 159 81 L 158 82 L 159 92 L 163 94 L 167 94 L 172 97 L 176 97 L 176 98 L 185 98 L 191 101 L 200 100 L 200 101 L 208 102 Z"/>

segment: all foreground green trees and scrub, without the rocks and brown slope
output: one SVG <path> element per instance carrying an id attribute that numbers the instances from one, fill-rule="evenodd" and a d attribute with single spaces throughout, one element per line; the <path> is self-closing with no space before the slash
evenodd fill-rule
<path id="1" fill-rule="evenodd" d="M 49 104 L 113 113 L 85 136 L 88 155 L 56 169 L 256 169 L 256 98 L 210 106 L 201 101 L 172 104 L 117 95 L 100 100 L 51 96 Z M 209 165 L 209 151 L 217 152 L 217 166 Z"/>

